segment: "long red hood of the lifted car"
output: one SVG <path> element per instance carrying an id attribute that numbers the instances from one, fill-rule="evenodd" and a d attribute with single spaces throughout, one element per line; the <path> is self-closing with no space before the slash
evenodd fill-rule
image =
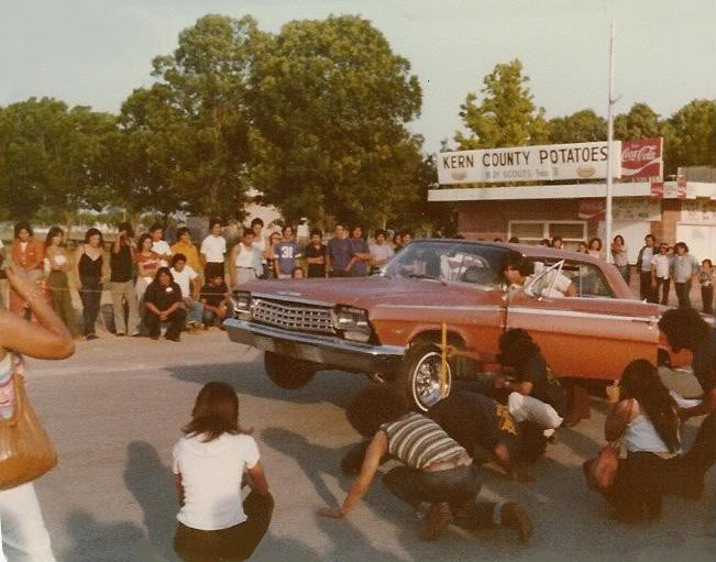
<path id="1" fill-rule="evenodd" d="M 252 282 L 241 287 L 252 294 L 315 300 L 371 309 L 378 305 L 430 302 L 431 305 L 464 304 L 492 300 L 496 289 L 463 284 L 443 284 L 432 279 L 389 279 L 385 277 L 286 279 Z"/>

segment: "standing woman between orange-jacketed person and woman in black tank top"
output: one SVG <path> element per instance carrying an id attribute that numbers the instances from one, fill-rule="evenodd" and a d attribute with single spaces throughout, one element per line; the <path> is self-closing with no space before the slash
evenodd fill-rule
<path id="1" fill-rule="evenodd" d="M 65 233 L 59 227 L 53 227 L 47 232 L 45 242 L 45 260 L 49 269 L 47 285 L 52 295 L 53 310 L 65 322 L 73 338 L 78 338 L 79 328 L 75 319 L 69 280 L 67 279 L 67 272 L 71 269 L 71 263 L 65 249 L 64 238 Z"/>

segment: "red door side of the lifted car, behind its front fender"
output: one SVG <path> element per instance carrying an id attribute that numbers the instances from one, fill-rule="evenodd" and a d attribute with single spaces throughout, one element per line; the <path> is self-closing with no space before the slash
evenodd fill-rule
<path id="1" fill-rule="evenodd" d="M 636 359 L 656 363 L 659 306 L 610 298 L 598 268 L 573 269 L 581 276 L 573 278 L 576 297 L 513 293 L 506 327 L 527 330 L 559 376 L 615 381 Z"/>

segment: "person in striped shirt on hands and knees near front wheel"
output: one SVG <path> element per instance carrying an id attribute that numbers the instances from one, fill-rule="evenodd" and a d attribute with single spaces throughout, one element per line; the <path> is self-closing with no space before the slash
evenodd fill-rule
<path id="1" fill-rule="evenodd" d="M 320 509 L 320 516 L 345 517 L 367 492 L 382 459 L 390 455 L 404 465 L 383 477 L 388 489 L 415 509 L 430 503 L 421 539 L 437 539 L 453 516 L 471 528 L 497 524 L 519 529 L 524 540 L 529 538 L 531 525 L 517 504 L 475 502 L 481 483 L 467 451 L 438 423 L 410 411 L 398 392 L 371 385 L 353 397 L 346 416 L 359 433 L 372 440 L 343 504 Z"/>

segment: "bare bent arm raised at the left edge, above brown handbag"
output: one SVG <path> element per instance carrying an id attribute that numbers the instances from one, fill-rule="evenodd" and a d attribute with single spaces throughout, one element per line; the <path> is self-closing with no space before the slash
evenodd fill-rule
<path id="1" fill-rule="evenodd" d="M 5 269 L 10 286 L 27 302 L 37 323 L 0 310 L 0 348 L 37 359 L 65 359 L 75 352 L 67 327 L 44 300 L 36 286 L 14 267 Z"/>

